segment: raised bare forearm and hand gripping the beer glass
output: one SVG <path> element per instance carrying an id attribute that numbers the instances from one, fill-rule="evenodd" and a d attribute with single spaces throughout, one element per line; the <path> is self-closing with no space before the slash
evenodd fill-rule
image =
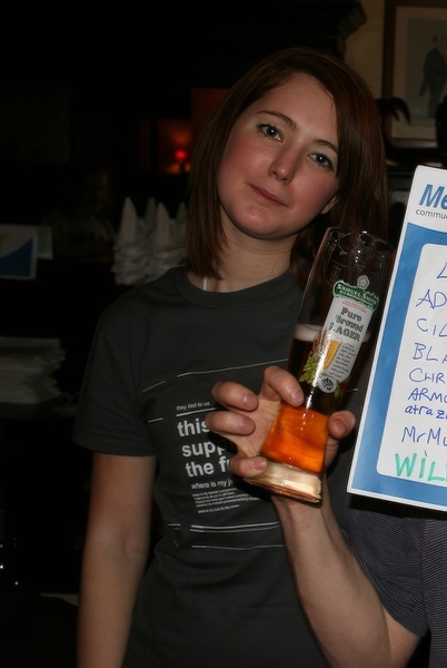
<path id="1" fill-rule="evenodd" d="M 279 405 L 279 396 L 292 405 L 302 402 L 294 376 L 278 367 L 266 371 L 259 396 L 236 383 L 219 383 L 215 399 L 227 411 L 210 413 L 206 421 L 215 432 L 231 440 L 238 454 L 234 473 L 246 478 L 264 470 L 256 456 Z M 327 465 L 334 460 L 338 440 L 355 424 L 348 411 L 329 419 Z M 329 491 L 322 501 L 309 504 L 274 495 L 285 533 L 294 580 L 309 622 L 329 665 L 334 668 L 405 667 L 419 638 L 383 608 L 380 600 L 348 549 L 331 511 Z"/>

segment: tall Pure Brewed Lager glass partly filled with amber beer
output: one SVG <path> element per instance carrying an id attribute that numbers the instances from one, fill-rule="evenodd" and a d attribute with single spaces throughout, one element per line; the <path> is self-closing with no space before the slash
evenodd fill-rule
<path id="1" fill-rule="evenodd" d="M 342 407 L 383 311 L 394 248 L 367 232 L 329 228 L 312 265 L 289 356 L 305 393 L 281 403 L 260 454 L 269 461 L 248 480 L 276 493 L 318 502 L 329 415 Z"/>

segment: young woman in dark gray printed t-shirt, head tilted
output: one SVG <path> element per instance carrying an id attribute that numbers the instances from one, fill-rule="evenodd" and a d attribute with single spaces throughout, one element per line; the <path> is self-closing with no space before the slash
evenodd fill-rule
<path id="1" fill-rule="evenodd" d="M 187 262 L 106 310 L 86 370 L 79 668 L 327 665 L 270 495 L 232 475 L 205 418 L 215 383 L 258 392 L 266 367 L 286 366 L 328 223 L 384 234 L 386 213 L 376 105 L 342 61 L 274 53 L 211 115 L 192 157 Z M 163 530 L 148 559 L 152 499 Z"/>

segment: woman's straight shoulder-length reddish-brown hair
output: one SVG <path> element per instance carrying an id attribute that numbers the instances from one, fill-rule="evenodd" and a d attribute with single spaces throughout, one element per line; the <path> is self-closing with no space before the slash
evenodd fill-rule
<path id="1" fill-rule="evenodd" d="M 228 136 L 237 118 L 255 101 L 289 80 L 307 73 L 332 97 L 338 130 L 337 202 L 317 216 L 296 239 L 290 268 L 306 272 L 330 224 L 367 229 L 386 237 L 388 190 L 385 149 L 376 102 L 364 79 L 336 57 L 307 47 L 272 53 L 255 65 L 228 91 L 205 125 L 196 144 L 188 186 L 187 257 L 200 276 L 218 276 L 225 244 L 217 176 Z M 302 266 L 301 266 L 302 265 Z"/>

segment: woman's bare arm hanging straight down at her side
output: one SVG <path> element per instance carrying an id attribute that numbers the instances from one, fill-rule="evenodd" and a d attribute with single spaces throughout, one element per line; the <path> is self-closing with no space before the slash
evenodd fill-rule
<path id="1" fill-rule="evenodd" d="M 121 668 L 145 571 L 156 472 L 152 456 L 96 453 L 82 557 L 78 668 Z"/>

